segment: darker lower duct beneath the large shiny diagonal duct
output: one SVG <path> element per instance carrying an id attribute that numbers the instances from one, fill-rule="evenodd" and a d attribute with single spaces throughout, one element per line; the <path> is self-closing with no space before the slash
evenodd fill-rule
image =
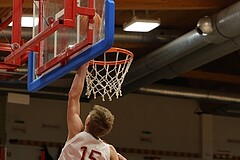
<path id="1" fill-rule="evenodd" d="M 202 48 L 188 56 L 185 56 L 165 67 L 138 79 L 137 82 L 123 85 L 123 93 L 133 92 L 141 86 L 145 86 L 156 82 L 160 79 L 171 79 L 182 73 L 191 71 L 215 59 L 223 57 L 240 49 L 240 36 L 222 44 L 211 44 Z"/>

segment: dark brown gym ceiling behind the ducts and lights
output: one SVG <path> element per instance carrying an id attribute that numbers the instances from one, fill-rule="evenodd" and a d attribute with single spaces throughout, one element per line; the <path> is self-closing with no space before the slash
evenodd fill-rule
<path id="1" fill-rule="evenodd" d="M 116 35 L 114 46 L 132 51 L 135 55 L 134 61 L 141 59 L 153 51 L 164 47 L 168 43 L 194 30 L 197 22 L 204 16 L 214 15 L 224 8 L 238 2 L 237 0 L 115 0 L 115 26 Z M 0 2 L 0 19 L 6 17 L 11 12 L 12 3 L 9 0 Z M 125 33 L 122 31 L 124 23 L 132 18 L 133 11 L 139 18 L 160 18 L 161 25 L 150 33 L 143 34 L 150 40 L 133 40 L 121 36 L 131 36 L 134 33 Z M 25 0 L 23 13 L 32 12 L 32 1 Z M 2 33 L 1 33 L 2 34 Z M 136 33 L 136 35 L 141 35 Z M 23 35 L 24 36 L 24 35 Z M 0 42 L 6 42 L 6 38 L 0 36 Z M 154 37 L 151 39 L 151 37 Z M 8 53 L 0 52 L 0 60 L 3 61 Z M 239 50 L 231 52 L 225 56 L 207 62 L 197 68 L 188 70 L 172 78 L 159 78 L 154 81 L 154 85 L 167 85 L 184 87 L 194 90 L 214 91 L 220 93 L 231 93 L 237 95 L 240 93 L 240 52 Z M 133 62 L 134 63 L 134 62 Z M 24 67 L 23 67 L 24 68 Z M 51 92 L 63 93 L 66 95 L 71 84 L 73 75 L 67 75 L 63 80 L 59 80 L 51 86 L 44 88 L 42 96 Z M 19 82 L 20 79 L 20 82 Z M 0 91 L 10 91 L 16 89 L 24 90 L 26 87 L 26 73 L 15 71 L 5 72 L 0 70 Z M 64 81 L 64 87 L 62 85 Z M 9 83 L 11 82 L 11 83 Z M 67 82 L 67 83 L 66 83 Z M 14 86 L 13 86 L 14 84 Z M 149 84 L 148 84 L 149 85 Z M 146 86 L 141 86 L 146 87 Z M 19 90 L 16 90 L 19 91 Z M 135 88 L 131 92 L 138 92 Z M 40 92 L 39 92 L 40 93 Z M 140 92 L 139 92 L 140 93 Z M 145 92 L 151 94 L 151 92 Z M 162 94 L 164 95 L 164 94 Z M 173 95 L 174 96 L 174 95 Z M 177 96 L 177 95 L 175 95 Z M 184 97 L 184 96 L 183 96 Z M 214 101 L 200 101 L 201 109 L 206 113 L 216 113 L 219 106 L 231 107 L 231 103 L 215 103 Z M 207 107 L 206 107 L 207 106 Z M 236 104 L 234 104 L 236 108 Z M 207 108 L 207 109 L 206 109 Z M 237 107 L 238 108 L 238 107 Z M 204 112 L 204 111 L 203 111 Z M 222 113 L 221 113 L 222 114 Z M 222 114 L 224 115 L 224 114 Z M 227 114 L 225 114 L 227 115 Z"/>

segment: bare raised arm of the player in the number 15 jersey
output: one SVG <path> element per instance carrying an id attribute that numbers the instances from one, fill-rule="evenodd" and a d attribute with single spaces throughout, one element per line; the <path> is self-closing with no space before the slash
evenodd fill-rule
<path id="1" fill-rule="evenodd" d="M 68 140 L 84 128 L 80 118 L 80 97 L 84 88 L 87 68 L 88 64 L 84 64 L 77 70 L 69 91 L 67 108 Z"/>

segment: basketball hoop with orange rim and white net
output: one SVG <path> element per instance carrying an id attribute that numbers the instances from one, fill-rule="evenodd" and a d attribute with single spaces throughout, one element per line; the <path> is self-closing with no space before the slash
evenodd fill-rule
<path id="1" fill-rule="evenodd" d="M 93 94 L 96 99 L 97 94 L 100 94 L 103 101 L 105 101 L 105 96 L 112 101 L 114 95 L 116 98 L 122 96 L 121 85 L 132 60 L 132 52 L 115 47 L 91 60 L 86 75 L 88 98 Z"/>

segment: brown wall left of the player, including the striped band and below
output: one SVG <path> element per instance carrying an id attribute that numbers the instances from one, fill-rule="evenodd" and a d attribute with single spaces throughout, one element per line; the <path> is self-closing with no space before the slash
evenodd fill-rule
<path id="1" fill-rule="evenodd" d="M 52 146 L 55 158 L 67 136 L 66 106 L 66 101 L 41 98 L 30 98 L 29 105 L 7 103 L 7 159 L 38 160 L 43 143 Z"/>

